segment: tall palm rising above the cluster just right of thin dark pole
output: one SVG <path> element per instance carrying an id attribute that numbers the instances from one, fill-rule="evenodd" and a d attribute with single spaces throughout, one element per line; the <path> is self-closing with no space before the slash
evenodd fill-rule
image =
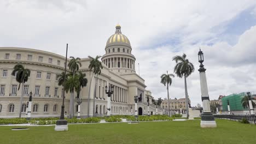
<path id="1" fill-rule="evenodd" d="M 75 73 L 79 70 L 79 66 L 81 67 L 82 64 L 80 63 L 80 58 L 74 58 L 69 57 L 71 60 L 68 63 L 68 68 L 72 71 L 73 77 L 75 76 Z M 74 117 L 74 89 L 73 91 L 70 91 L 70 104 L 69 104 L 69 117 Z"/>

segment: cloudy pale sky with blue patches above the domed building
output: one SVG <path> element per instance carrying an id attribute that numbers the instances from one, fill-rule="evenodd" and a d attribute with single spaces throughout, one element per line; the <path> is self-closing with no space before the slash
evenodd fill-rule
<path id="1" fill-rule="evenodd" d="M 119 23 L 131 41 L 140 75 L 155 98 L 166 98 L 160 75 L 186 53 L 192 105 L 201 104 L 199 47 L 205 54 L 210 99 L 256 91 L 256 1 L 0 1 L 0 46 L 27 47 L 85 58 L 104 55 Z M 136 66 L 138 69 L 138 66 Z M 137 70 L 138 71 L 138 70 Z M 184 98 L 174 77 L 170 97 Z"/>

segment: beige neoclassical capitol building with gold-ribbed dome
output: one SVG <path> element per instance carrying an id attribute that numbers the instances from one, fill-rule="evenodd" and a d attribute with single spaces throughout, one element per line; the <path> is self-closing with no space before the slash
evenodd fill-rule
<path id="1" fill-rule="evenodd" d="M 146 89 L 144 79 L 136 74 L 135 56 L 132 55 L 132 47 L 129 39 L 121 33 L 121 27 L 117 25 L 115 34 L 107 40 L 106 53 L 102 57 L 103 69 L 98 79 L 92 79 L 91 93 L 89 95 L 89 83 L 92 71 L 88 69 L 90 59 L 82 58 L 82 67 L 79 68 L 86 74 L 88 85 L 80 92 L 83 99 L 81 104 L 81 117 L 92 116 L 95 108 L 96 116 L 107 114 L 107 95 L 104 87 L 113 86 L 114 93 L 111 97 L 112 115 L 131 115 L 135 113 L 135 95 L 142 95 L 142 101 L 138 102 L 138 113 L 142 115 L 144 107 L 147 107 L 149 97 L 149 111 L 156 113 L 152 105 L 152 93 Z M 100 55 L 100 53 L 99 53 Z M 75 57 L 75 56 L 74 56 Z M 69 61 L 69 59 L 68 59 Z M 65 57 L 56 53 L 26 49 L 20 47 L 0 47 L 0 117 L 18 117 L 20 107 L 21 88 L 19 83 L 11 76 L 14 65 L 22 64 L 31 70 L 31 75 L 24 87 L 24 100 L 22 101 L 22 117 L 25 117 L 28 93 L 33 93 L 31 117 L 58 117 L 62 104 L 62 87 L 57 85 L 58 77 L 65 70 Z M 94 88 L 96 86 L 95 107 L 93 104 Z M 75 94 L 76 95 L 76 94 Z M 65 94 L 65 111 L 69 113 L 69 93 Z M 77 103 L 74 100 L 74 110 L 77 111 Z M 132 111 L 131 111 L 132 107 Z M 158 109 L 158 114 L 162 109 Z M 75 113 L 77 115 L 77 112 Z"/>

